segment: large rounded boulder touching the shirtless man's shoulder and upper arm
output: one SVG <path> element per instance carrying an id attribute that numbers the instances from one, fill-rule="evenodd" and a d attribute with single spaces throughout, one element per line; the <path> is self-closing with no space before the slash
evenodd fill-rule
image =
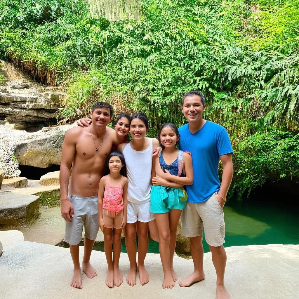
<path id="1" fill-rule="evenodd" d="M 60 165 L 61 148 L 65 133 L 72 126 L 45 127 L 28 136 L 25 142 L 16 146 L 14 155 L 21 165 L 49 167 Z"/>

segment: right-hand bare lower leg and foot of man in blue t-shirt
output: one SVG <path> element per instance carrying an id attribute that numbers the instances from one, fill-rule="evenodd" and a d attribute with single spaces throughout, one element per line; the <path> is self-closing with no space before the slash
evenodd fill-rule
<path id="1" fill-rule="evenodd" d="M 210 251 L 212 252 L 212 261 L 216 270 L 216 277 L 217 277 L 216 299 L 229 299 L 230 296 L 224 286 L 224 273 L 225 273 L 225 266 L 226 266 L 225 249 L 223 245 L 217 247 L 213 247 L 209 245 L 209 248 Z"/>

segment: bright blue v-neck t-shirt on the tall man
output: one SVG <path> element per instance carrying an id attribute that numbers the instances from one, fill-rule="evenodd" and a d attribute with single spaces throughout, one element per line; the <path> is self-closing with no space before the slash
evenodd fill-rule
<path id="1" fill-rule="evenodd" d="M 180 149 L 192 155 L 194 181 L 191 186 L 185 186 L 188 202 L 205 202 L 220 190 L 219 156 L 233 153 L 228 133 L 224 127 L 208 120 L 194 134 L 188 123 L 179 127 L 179 133 Z"/>

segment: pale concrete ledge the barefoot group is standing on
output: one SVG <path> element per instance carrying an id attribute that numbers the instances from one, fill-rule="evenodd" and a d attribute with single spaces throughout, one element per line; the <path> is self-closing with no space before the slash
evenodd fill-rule
<path id="1" fill-rule="evenodd" d="M 225 285 L 231 298 L 281 299 L 298 297 L 299 245 L 250 245 L 226 248 L 228 261 Z M 83 247 L 80 247 L 80 260 Z M 1 298 L 196 298 L 214 299 L 216 273 L 211 254 L 204 254 L 206 279 L 189 288 L 178 283 L 172 290 L 162 289 L 163 271 L 159 254 L 147 254 L 145 266 L 150 281 L 133 288 L 125 280 L 129 270 L 127 254 L 120 256 L 124 283 L 119 288 L 105 285 L 106 259 L 104 252 L 93 251 L 91 263 L 98 276 L 89 279 L 83 273 L 83 289 L 70 287 L 73 274 L 69 250 L 52 245 L 22 242 L 4 251 L 0 260 Z M 193 271 L 193 261 L 174 257 L 179 279 Z"/>

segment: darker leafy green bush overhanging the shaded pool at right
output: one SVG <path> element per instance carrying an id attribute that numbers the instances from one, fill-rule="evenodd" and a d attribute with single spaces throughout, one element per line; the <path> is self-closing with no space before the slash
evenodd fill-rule
<path id="1" fill-rule="evenodd" d="M 267 181 L 299 176 L 298 132 L 263 129 L 240 141 L 235 154 L 231 193 L 237 190 L 239 198 Z"/>

